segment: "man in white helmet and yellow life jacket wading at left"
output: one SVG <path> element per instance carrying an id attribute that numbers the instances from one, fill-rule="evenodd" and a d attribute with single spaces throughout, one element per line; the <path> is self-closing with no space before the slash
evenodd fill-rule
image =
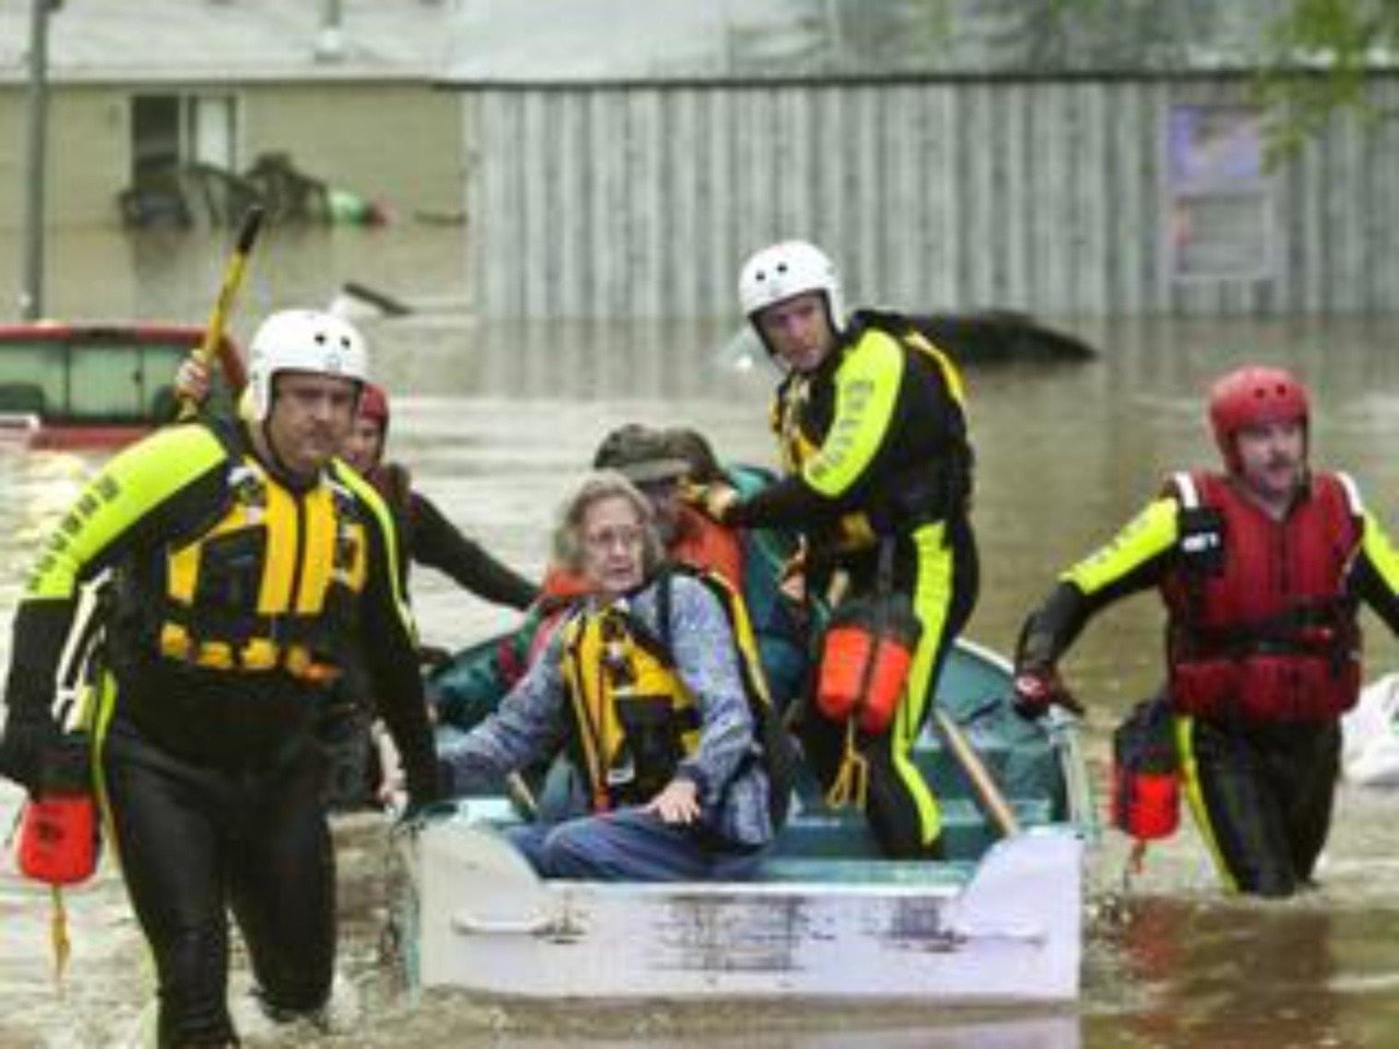
<path id="1" fill-rule="evenodd" d="M 168 427 L 113 457 L 53 531 L 14 620 L 0 772 L 59 747 L 56 666 L 80 586 L 112 571 L 95 662 L 98 787 L 155 957 L 161 1046 L 232 1046 L 231 909 L 276 1020 L 320 1013 L 334 856 L 312 729 L 351 648 L 436 796 L 414 631 L 383 501 L 334 460 L 367 376 L 348 323 L 274 313 L 238 424 Z"/>

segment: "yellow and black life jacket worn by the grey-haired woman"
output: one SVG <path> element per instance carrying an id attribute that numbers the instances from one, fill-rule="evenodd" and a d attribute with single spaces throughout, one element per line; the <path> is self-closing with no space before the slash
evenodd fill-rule
<path id="1" fill-rule="evenodd" d="M 754 722 L 753 758 L 769 780 L 774 828 L 786 820 L 795 755 L 768 698 L 758 646 L 743 599 L 718 575 L 676 565 L 656 580 L 659 631 L 618 606 L 581 611 L 564 625 L 564 681 L 574 762 L 597 811 L 644 804 L 674 776 L 700 743 L 700 711 L 676 671 L 670 648 L 670 587 L 676 573 L 704 583 L 725 610 Z"/>

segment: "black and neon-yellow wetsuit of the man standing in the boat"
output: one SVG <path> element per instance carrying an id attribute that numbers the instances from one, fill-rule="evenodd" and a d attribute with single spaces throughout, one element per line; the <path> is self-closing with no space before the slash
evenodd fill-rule
<path id="1" fill-rule="evenodd" d="M 867 762 L 865 811 L 890 856 L 940 849 L 937 800 L 909 754 L 932 709 L 947 649 L 978 592 L 968 515 L 972 456 L 961 376 L 895 315 L 856 313 L 841 343 L 809 375 L 778 389 L 774 427 L 788 473 L 744 498 L 729 523 L 799 529 L 817 590 L 848 572 L 846 599 L 886 589 L 922 627 L 908 683 L 886 732 L 858 733 Z M 880 555 L 887 551 L 887 580 Z M 848 768 L 846 725 L 803 725 L 807 757 L 827 786 Z"/>

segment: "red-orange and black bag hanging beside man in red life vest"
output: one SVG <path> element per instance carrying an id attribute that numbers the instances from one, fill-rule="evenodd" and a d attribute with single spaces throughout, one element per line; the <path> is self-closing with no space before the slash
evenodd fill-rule
<path id="1" fill-rule="evenodd" d="M 1112 733 L 1112 825 L 1150 842 L 1175 834 L 1179 817 L 1171 705 L 1161 698 L 1147 699 Z"/>

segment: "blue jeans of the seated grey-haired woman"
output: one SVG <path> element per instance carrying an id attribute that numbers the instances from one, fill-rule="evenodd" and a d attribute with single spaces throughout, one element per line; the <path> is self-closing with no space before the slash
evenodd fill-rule
<path id="1" fill-rule="evenodd" d="M 762 855 L 642 808 L 527 824 L 511 828 L 509 839 L 546 878 L 737 881 L 753 874 Z"/>

